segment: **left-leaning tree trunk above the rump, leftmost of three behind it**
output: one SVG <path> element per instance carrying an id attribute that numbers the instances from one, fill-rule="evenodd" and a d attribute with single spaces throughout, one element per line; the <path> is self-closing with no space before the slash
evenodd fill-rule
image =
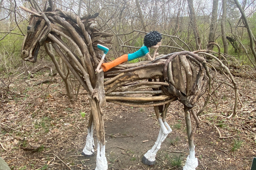
<path id="1" fill-rule="evenodd" d="M 197 46 L 197 50 L 200 50 L 201 49 L 201 39 L 199 37 L 197 20 L 195 19 L 195 10 L 193 7 L 193 0 L 187 0 L 187 4 L 189 6 L 191 25 L 192 25 L 192 29 L 193 29 L 193 32 L 195 35 L 195 44 Z"/>

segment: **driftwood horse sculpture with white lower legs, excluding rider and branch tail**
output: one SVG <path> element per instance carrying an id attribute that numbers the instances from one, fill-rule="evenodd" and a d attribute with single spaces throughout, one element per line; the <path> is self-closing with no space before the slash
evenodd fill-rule
<path id="1" fill-rule="evenodd" d="M 53 9 L 51 3 L 50 6 Z M 98 145 L 96 170 L 108 169 L 102 109 L 106 101 L 125 106 L 154 107 L 160 132 L 152 149 L 142 158 L 144 164 L 153 165 L 161 143 L 172 132 L 165 117 L 170 103 L 176 100 L 184 105 L 189 139 L 190 154 L 183 169 L 195 170 L 198 161 L 194 151 L 194 134 L 199 127 L 199 121 L 193 106 L 201 97 L 206 82 L 208 85 L 211 80 L 205 59 L 193 52 L 182 51 L 158 57 L 153 61 L 120 64 L 108 72 L 96 73 L 95 69 L 99 64 L 96 45 L 98 43 L 107 45 L 111 40 L 104 41 L 100 38 L 112 36 L 90 27 L 90 21 L 97 14 L 79 18 L 73 13 L 63 12 L 60 9 L 35 12 L 24 7 L 20 8 L 32 14 L 22 44 L 22 59 L 36 62 L 38 50 L 44 45 L 46 52 L 53 56 L 52 60 L 57 68 L 58 63 L 51 51 L 53 47 L 88 92 L 91 114 L 82 154 L 84 156 L 94 154 L 93 126 L 95 126 Z M 65 43 L 63 39 L 69 43 Z M 104 78 L 107 81 L 104 81 Z M 132 94 L 140 96 L 134 97 Z M 196 122 L 194 127 L 192 127 L 191 115 Z"/>

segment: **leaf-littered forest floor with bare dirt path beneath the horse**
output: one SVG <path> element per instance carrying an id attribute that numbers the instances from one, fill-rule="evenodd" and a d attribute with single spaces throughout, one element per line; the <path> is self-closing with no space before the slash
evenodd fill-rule
<path id="1" fill-rule="evenodd" d="M 90 115 L 87 95 L 78 95 L 77 101 L 71 103 L 61 77 L 46 77 L 49 70 L 42 69 L 30 78 L 28 70 L 33 72 L 23 68 L 11 76 L 0 75 L 0 156 L 12 170 L 94 169 L 96 154 L 81 156 Z M 216 79 L 226 80 L 221 75 Z M 201 127 L 195 134 L 198 170 L 248 170 L 256 157 L 256 83 L 253 79 L 235 79 L 243 103 L 243 107 L 238 104 L 238 117 L 227 119 L 234 106 L 234 90 L 225 85 L 213 95 L 216 103 L 211 99 L 200 116 Z M 44 80 L 51 83 L 35 85 Z M 201 97 L 195 111 L 203 103 Z M 173 131 L 162 143 L 153 166 L 141 162 L 160 128 L 153 108 L 107 103 L 103 110 L 108 169 L 182 169 L 189 150 L 180 102 L 168 109 L 166 120 Z M 85 112 L 84 117 L 81 112 Z"/>

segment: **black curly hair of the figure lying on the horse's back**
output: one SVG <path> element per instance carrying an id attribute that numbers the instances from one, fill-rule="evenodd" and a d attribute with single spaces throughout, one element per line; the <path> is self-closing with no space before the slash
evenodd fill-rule
<path id="1" fill-rule="evenodd" d="M 162 40 L 162 35 L 158 31 L 150 31 L 144 36 L 144 45 L 146 47 L 155 46 Z"/>

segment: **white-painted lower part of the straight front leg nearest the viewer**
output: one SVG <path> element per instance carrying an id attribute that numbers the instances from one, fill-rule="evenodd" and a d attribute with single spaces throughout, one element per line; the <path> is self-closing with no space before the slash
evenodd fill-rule
<path id="1" fill-rule="evenodd" d="M 108 162 L 105 156 L 105 145 L 98 142 L 95 170 L 107 170 L 107 169 L 108 169 Z"/>

